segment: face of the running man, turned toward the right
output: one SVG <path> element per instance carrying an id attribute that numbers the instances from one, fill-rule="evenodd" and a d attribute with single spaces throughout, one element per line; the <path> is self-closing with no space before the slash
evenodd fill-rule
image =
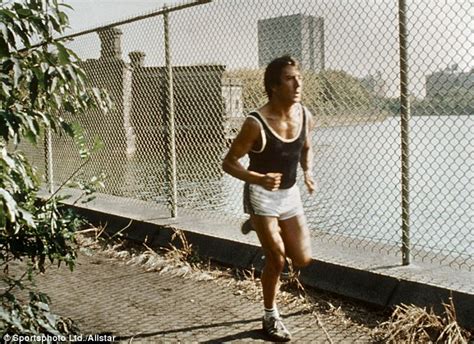
<path id="1" fill-rule="evenodd" d="M 285 103 L 301 101 L 303 80 L 299 69 L 295 66 L 286 66 L 281 71 L 280 84 L 272 89 L 272 97 Z"/>

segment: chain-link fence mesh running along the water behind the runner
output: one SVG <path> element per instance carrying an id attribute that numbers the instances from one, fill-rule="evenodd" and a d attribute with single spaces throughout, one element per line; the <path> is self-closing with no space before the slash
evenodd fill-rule
<path id="1" fill-rule="evenodd" d="M 409 226 L 413 259 L 472 271 L 470 9 L 463 0 L 401 11 L 388 0 L 199 1 L 74 34 L 70 47 L 90 82 L 115 103 L 77 118 L 91 142 L 104 142 L 83 171 L 105 171 L 104 192 L 124 202 L 242 221 L 242 183 L 221 161 L 246 113 L 266 101 L 265 65 L 291 54 L 316 122 L 318 190 L 303 192 L 314 240 L 398 256 Z M 80 159 L 63 137 L 52 146 L 61 184 Z M 409 185 L 401 184 L 402 149 Z"/>

